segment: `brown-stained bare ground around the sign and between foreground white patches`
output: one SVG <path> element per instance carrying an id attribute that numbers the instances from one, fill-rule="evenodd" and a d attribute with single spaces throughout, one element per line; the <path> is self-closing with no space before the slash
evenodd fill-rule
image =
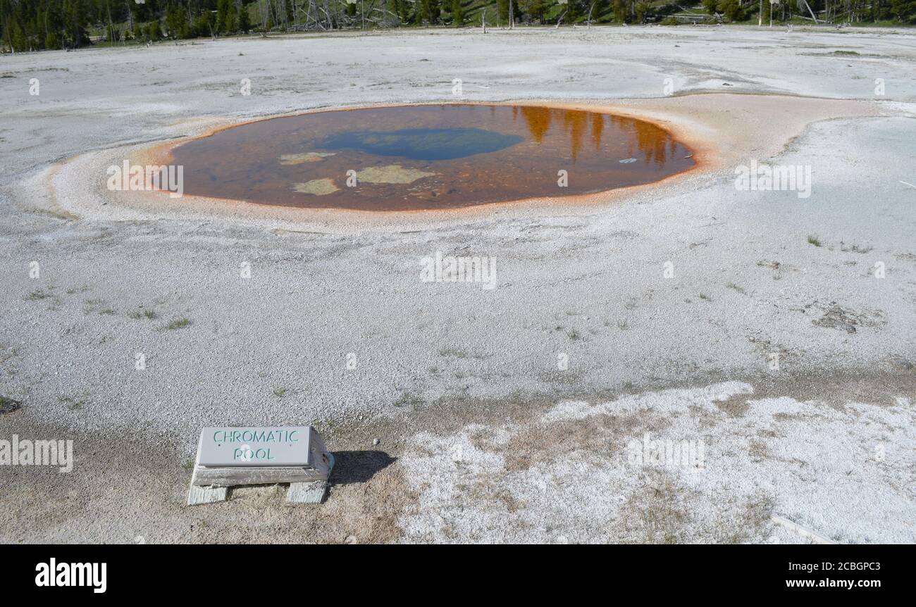
<path id="1" fill-rule="evenodd" d="M 912 393 L 916 377 L 900 371 L 747 380 L 755 385 L 753 394 L 733 396 L 719 404 L 729 417 L 744 415 L 744 401 L 775 396 L 816 399 L 823 406 L 850 401 L 890 405 L 895 395 Z M 596 403 L 628 392 L 582 397 Z M 49 467 L 3 471 L 0 481 L 6 515 L 0 520 L 0 542 L 397 542 L 404 539 L 403 516 L 419 504 L 420 494 L 411 490 L 398 462 L 409 450 L 424 449 L 414 443 L 417 433 L 449 436 L 473 427 L 478 449 L 505 458 L 506 468 L 501 472 L 505 476 L 577 454 L 618 450 L 620 444 L 643 432 L 659 434 L 669 421 L 647 410 L 545 425 L 543 415 L 554 404 L 553 398 L 544 395 L 515 395 L 498 401 L 417 399 L 396 417 L 320 424 L 336 464 L 327 499 L 317 506 L 288 504 L 286 485 L 235 488 L 228 502 L 187 506 L 190 461 L 174 446 L 136 431 L 103 437 L 47 424 L 32 428 L 19 410 L 0 418 L 6 434 L 71 438 L 76 463 L 69 474 Z M 709 417 L 711 434 L 722 422 L 701 410 L 689 415 Z M 804 422 L 779 415 L 785 423 Z M 498 435 L 504 428 L 512 428 L 512 436 L 500 441 Z M 762 431 L 751 439 L 752 460 L 774 457 L 767 449 L 771 436 Z M 379 437 L 380 444 L 374 445 L 373 439 Z M 475 507 L 484 504 L 510 513 L 525 508 L 500 489 L 501 478 L 481 476 L 458 487 L 458 494 Z M 638 489 L 627 493 L 622 518 L 603 525 L 623 542 L 760 541 L 769 533 L 772 497 L 757 493 L 745 501 L 721 504 L 720 512 L 711 516 L 694 490 L 669 474 L 649 471 Z"/>

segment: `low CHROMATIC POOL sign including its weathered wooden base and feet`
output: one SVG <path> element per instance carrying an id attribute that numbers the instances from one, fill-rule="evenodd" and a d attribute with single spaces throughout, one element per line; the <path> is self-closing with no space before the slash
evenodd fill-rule
<path id="1" fill-rule="evenodd" d="M 236 485 L 286 482 L 287 501 L 320 504 L 333 465 L 311 426 L 203 428 L 188 505 L 222 502 Z"/>

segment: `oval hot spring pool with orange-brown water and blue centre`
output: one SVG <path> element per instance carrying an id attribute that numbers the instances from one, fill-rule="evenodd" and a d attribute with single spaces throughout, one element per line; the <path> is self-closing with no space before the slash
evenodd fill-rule
<path id="1" fill-rule="evenodd" d="M 645 121 L 478 104 L 272 118 L 176 146 L 170 162 L 184 166 L 186 194 L 361 211 L 588 194 L 650 183 L 694 164 L 688 147 Z"/>

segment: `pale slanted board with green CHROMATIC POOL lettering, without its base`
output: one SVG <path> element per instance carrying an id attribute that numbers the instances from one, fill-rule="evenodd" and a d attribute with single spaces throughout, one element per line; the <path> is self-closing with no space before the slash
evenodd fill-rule
<path id="1" fill-rule="evenodd" d="M 203 428 L 197 465 L 204 467 L 310 466 L 311 428 Z"/>

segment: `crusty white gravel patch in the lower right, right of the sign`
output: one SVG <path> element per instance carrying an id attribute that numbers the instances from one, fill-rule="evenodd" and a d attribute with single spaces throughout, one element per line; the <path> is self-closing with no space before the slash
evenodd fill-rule
<path id="1" fill-rule="evenodd" d="M 909 486 L 916 437 L 907 398 L 833 407 L 752 397 L 740 416 L 720 407 L 753 391 L 725 382 L 594 405 L 563 401 L 531 425 L 420 433 L 402 460 L 420 493 L 402 519 L 404 539 L 801 541 L 769 526 L 769 515 L 778 513 L 838 542 L 916 541 Z M 532 425 L 541 437 L 568 435 L 570 427 L 558 422 L 589 417 L 609 422 L 599 449 L 507 466 L 510 441 Z M 634 418 L 643 431 L 615 432 Z M 651 441 L 684 440 L 695 441 L 695 460 L 650 461 L 657 451 L 643 450 Z"/>

